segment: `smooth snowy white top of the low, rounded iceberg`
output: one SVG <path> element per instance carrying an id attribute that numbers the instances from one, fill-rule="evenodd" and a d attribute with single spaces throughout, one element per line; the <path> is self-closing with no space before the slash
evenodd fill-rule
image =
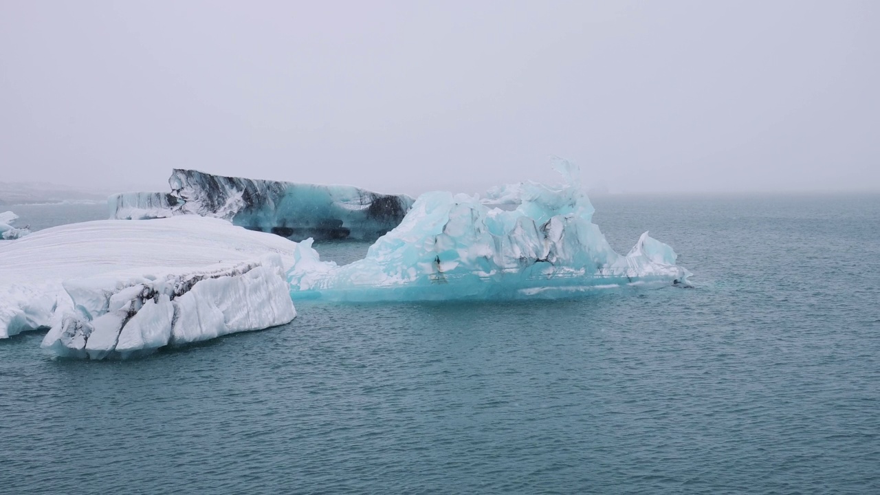
<path id="1" fill-rule="evenodd" d="M 69 314 L 73 298 L 65 283 L 70 289 L 81 279 L 128 279 L 131 270 L 139 277 L 161 273 L 182 277 L 206 266 L 259 261 L 272 254 L 281 256 L 282 270 L 289 270 L 295 246 L 276 235 L 196 216 L 99 220 L 41 230 L 0 243 L 0 338 L 51 328 L 56 316 Z M 242 309 L 253 305 L 253 301 L 239 302 Z"/>

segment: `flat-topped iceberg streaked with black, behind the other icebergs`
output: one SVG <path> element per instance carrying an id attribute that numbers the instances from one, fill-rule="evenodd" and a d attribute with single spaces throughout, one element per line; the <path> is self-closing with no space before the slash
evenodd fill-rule
<path id="1" fill-rule="evenodd" d="M 409 196 L 351 186 L 320 186 L 205 174 L 174 169 L 171 193 L 110 196 L 111 218 L 200 215 L 230 220 L 291 240 L 374 240 L 400 224 L 413 204 Z"/>

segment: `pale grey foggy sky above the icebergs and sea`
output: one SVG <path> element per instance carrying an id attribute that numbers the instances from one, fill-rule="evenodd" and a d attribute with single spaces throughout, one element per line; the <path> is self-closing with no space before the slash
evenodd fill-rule
<path id="1" fill-rule="evenodd" d="M 0 181 L 880 190 L 880 2 L 0 0 Z"/>

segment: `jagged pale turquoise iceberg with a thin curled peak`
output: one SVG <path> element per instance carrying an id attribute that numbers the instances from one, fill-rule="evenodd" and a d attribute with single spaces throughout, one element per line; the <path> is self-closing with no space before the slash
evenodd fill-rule
<path id="1" fill-rule="evenodd" d="M 420 196 L 365 259 L 321 262 L 299 243 L 291 297 L 343 300 L 560 297 L 632 286 L 687 284 L 671 247 L 648 233 L 626 256 L 597 225 L 576 166 L 557 159 L 561 187 L 528 182 L 479 196 Z"/>

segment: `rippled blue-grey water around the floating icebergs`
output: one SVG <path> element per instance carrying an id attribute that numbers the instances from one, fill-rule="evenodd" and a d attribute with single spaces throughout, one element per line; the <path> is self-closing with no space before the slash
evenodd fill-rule
<path id="1" fill-rule="evenodd" d="M 880 196 L 594 203 L 698 288 L 299 303 L 125 362 L 0 342 L 0 492 L 880 491 Z"/>

